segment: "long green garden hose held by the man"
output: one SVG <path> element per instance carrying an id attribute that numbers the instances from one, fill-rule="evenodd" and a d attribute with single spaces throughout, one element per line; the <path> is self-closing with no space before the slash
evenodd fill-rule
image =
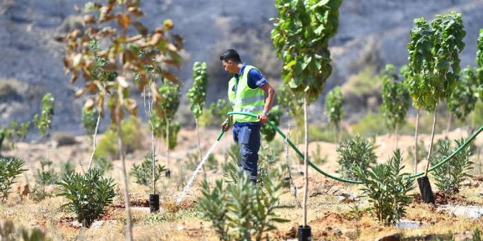
<path id="1" fill-rule="evenodd" d="M 238 112 L 238 111 L 233 111 L 233 112 L 228 112 L 227 115 L 248 115 L 250 117 L 257 117 L 257 115 L 254 115 L 252 113 L 244 113 L 244 112 Z M 302 152 L 300 152 L 300 150 L 297 148 L 297 146 L 295 146 L 292 141 L 290 141 L 290 139 L 286 138 L 286 135 L 282 133 L 282 131 L 275 125 L 273 124 L 273 122 L 271 121 L 268 121 L 268 125 L 270 127 L 272 127 L 274 130 L 277 131 L 277 133 L 279 133 L 281 135 L 281 137 L 283 137 L 283 139 L 287 139 L 288 141 L 288 144 L 295 150 L 295 152 L 297 152 L 297 154 L 299 154 L 299 157 L 301 157 L 301 159 L 303 159 L 303 154 Z M 433 165 L 431 168 L 429 168 L 428 172 L 431 172 L 433 170 L 435 170 L 436 168 L 438 168 L 440 165 L 446 163 L 447 161 L 449 161 L 449 159 L 451 159 L 451 157 L 453 157 L 455 154 L 458 154 L 458 152 L 460 152 L 463 148 L 465 148 L 471 141 L 473 141 L 473 139 L 475 139 L 475 137 L 480 134 L 483 130 L 483 126 L 481 126 L 475 133 L 473 133 L 473 135 L 471 135 L 471 137 L 469 137 L 468 139 L 466 139 L 466 141 L 464 141 L 464 144 L 462 144 L 462 146 L 460 146 L 458 149 L 455 150 L 455 152 L 451 153 L 448 157 L 446 157 L 444 160 L 440 161 L 440 163 L 436 164 L 436 165 Z M 219 139 L 222 138 L 222 135 L 224 134 L 224 130 L 222 130 L 218 137 L 217 137 L 217 141 L 219 141 Z M 353 183 L 353 184 L 362 184 L 361 181 L 356 181 L 356 180 L 350 180 L 350 179 L 344 179 L 342 177 L 339 177 L 339 176 L 334 176 L 332 174 L 328 174 L 327 172 L 324 172 L 323 170 L 321 170 L 320 168 L 318 168 L 316 165 L 314 165 L 314 163 L 312 163 L 311 161 L 308 160 L 308 165 L 310 165 L 312 168 L 314 168 L 317 172 L 323 174 L 324 176 L 327 176 L 328 178 L 330 179 L 334 179 L 334 180 L 337 180 L 337 181 L 341 181 L 343 183 Z M 415 177 L 418 177 L 418 176 L 422 176 L 423 174 L 425 174 L 425 172 L 420 172 L 420 173 L 417 173 L 417 174 L 412 174 L 411 176 L 409 176 L 410 178 L 415 178 Z"/>

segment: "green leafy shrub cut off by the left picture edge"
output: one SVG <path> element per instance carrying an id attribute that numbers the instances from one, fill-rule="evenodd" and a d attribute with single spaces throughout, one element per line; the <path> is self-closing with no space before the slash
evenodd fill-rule
<path id="1" fill-rule="evenodd" d="M 3 203 L 10 194 L 10 188 L 16 183 L 15 178 L 22 172 L 25 162 L 19 158 L 0 157 L 0 200 Z"/>

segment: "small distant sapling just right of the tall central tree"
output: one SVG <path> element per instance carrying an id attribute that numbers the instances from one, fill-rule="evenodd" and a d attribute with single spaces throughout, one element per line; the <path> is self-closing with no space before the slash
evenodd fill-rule
<path id="1" fill-rule="evenodd" d="M 344 115 L 342 108 L 343 99 L 341 87 L 335 87 L 325 97 L 325 115 L 329 117 L 329 121 L 334 125 L 334 141 L 339 142 L 339 131 L 341 130 L 341 119 Z"/>

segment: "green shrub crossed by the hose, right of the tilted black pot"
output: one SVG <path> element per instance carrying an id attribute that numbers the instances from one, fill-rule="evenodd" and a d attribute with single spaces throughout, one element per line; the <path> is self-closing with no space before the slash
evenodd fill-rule
<path id="1" fill-rule="evenodd" d="M 436 143 L 438 147 L 436 149 L 437 156 L 436 158 L 431 159 L 431 165 L 436 165 L 448 157 L 451 152 L 458 149 L 464 143 L 464 139 L 455 140 L 457 146 L 454 150 L 451 149 L 449 140 L 438 142 L 439 143 Z M 471 146 L 466 146 L 458 152 L 458 154 L 455 154 L 451 160 L 433 170 L 432 174 L 436 180 L 436 187 L 448 194 L 460 192 L 462 181 L 464 181 L 466 177 L 471 177 L 471 174 L 468 173 L 469 170 L 473 169 L 473 167 L 471 167 L 473 162 L 469 160 L 470 156 Z"/>

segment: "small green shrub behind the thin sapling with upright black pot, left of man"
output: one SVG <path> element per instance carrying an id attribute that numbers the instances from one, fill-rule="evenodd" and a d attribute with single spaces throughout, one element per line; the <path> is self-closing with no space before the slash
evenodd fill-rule
<path id="1" fill-rule="evenodd" d="M 156 161 L 158 160 L 154 159 L 155 163 Z M 154 175 L 154 181 L 158 181 L 162 172 L 164 172 L 166 169 L 164 168 L 164 165 L 160 164 L 155 165 L 155 167 L 156 170 Z M 133 164 L 133 168 L 131 169 L 131 176 L 134 176 L 135 183 L 150 186 L 151 182 L 153 181 L 153 161 L 151 153 L 144 155 L 144 161 L 142 161 L 141 165 Z"/>

